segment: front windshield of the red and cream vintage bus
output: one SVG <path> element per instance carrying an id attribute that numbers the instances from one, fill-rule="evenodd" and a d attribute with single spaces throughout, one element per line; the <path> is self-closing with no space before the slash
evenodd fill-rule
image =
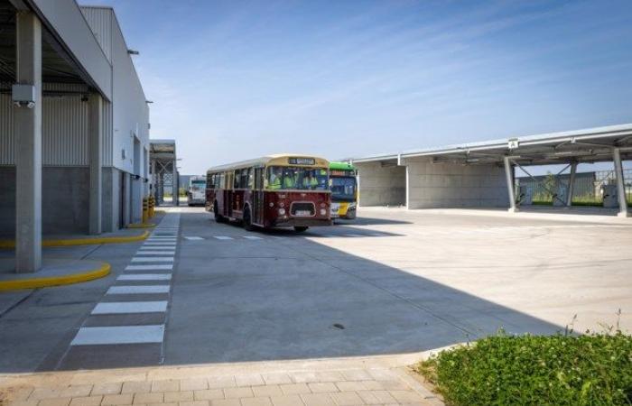
<path id="1" fill-rule="evenodd" d="M 268 189 L 328 190 L 327 171 L 322 168 L 271 166 L 267 171 Z"/>

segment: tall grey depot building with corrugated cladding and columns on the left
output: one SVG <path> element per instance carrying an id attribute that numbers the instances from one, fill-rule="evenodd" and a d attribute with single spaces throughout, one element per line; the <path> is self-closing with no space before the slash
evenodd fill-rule
<path id="1" fill-rule="evenodd" d="M 32 272 L 42 233 L 140 221 L 149 109 L 112 8 L 0 0 L 0 42 L 0 233 Z"/>

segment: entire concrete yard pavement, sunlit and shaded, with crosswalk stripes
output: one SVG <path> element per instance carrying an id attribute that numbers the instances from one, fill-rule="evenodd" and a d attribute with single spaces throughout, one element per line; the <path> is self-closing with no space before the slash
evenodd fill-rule
<path id="1" fill-rule="evenodd" d="M 358 398 L 333 393 L 349 389 L 370 403 L 377 400 L 363 398 L 361 391 L 390 389 L 376 383 L 362 389 L 346 384 L 356 381 L 345 374 L 340 380 L 332 372 L 379 369 L 397 374 L 393 382 L 402 381 L 403 391 L 421 396 L 415 401 L 436 401 L 415 390 L 399 369 L 424 350 L 498 328 L 548 334 L 572 322 L 578 331 L 617 324 L 630 330 L 632 227 L 567 218 L 365 208 L 355 222 L 302 234 L 248 233 L 237 225 L 216 224 L 201 208 L 173 208 L 165 217 L 171 224 L 157 227 L 144 243 L 60 248 L 68 257 L 112 263 L 112 275 L 104 280 L 0 294 L 5 303 L 0 350 L 6 355 L 0 379 L 16 383 L 16 373 L 42 371 L 28 375 L 37 388 L 71 374 L 73 381 L 64 381 L 61 392 L 68 394 L 68 385 L 87 380 L 93 384 L 89 396 L 94 383 L 110 379 L 104 376 L 121 383 L 120 393 L 115 388 L 113 394 L 123 394 L 127 381 L 201 376 L 206 383 L 200 385 L 208 389 L 198 390 L 220 390 L 213 396 L 221 393 L 222 399 L 198 399 L 194 389 L 191 398 L 187 383 L 180 382 L 178 391 L 189 393 L 177 395 L 183 396 L 180 401 L 229 404 L 228 397 L 238 394 L 242 404 L 250 404 L 259 393 L 265 404 L 281 390 L 281 396 L 299 395 L 292 399 L 309 403 L 306 395 L 327 388 L 329 401 L 344 404 Z M 144 365 L 150 368 L 138 375 Z M 128 369 L 116 369 L 122 367 Z M 59 372 L 79 369 L 94 372 Z M 335 388 L 312 388 L 309 383 L 324 383 L 316 378 L 317 370 L 335 375 Z M 277 373 L 289 378 L 265 380 L 265 374 Z M 305 383 L 294 373 L 311 376 L 309 392 L 283 392 L 279 385 Z M 249 374 L 260 379 L 237 378 Z M 226 384 L 211 388 L 211 377 Z M 229 390 L 240 388 L 239 382 L 249 389 Z M 255 389 L 270 385 L 276 386 Z M 175 399 L 166 397 L 175 391 L 158 392 L 162 402 Z M 36 400 L 32 395 L 22 400 Z M 37 401 L 42 406 L 73 401 L 55 396 L 64 400 Z M 386 395 L 383 399 L 390 401 Z M 74 402 L 81 401 L 96 400 Z"/>

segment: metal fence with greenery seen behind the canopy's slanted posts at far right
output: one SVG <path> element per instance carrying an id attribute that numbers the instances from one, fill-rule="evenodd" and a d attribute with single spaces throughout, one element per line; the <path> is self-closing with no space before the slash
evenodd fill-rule
<path id="1" fill-rule="evenodd" d="M 626 185 L 627 195 L 632 195 L 632 170 L 623 171 L 623 179 Z M 533 190 L 534 201 L 548 201 L 553 198 L 552 191 L 555 192 L 560 185 L 568 186 L 571 175 L 564 173 L 562 175 L 554 175 L 549 173 L 543 176 L 519 177 L 516 178 L 516 186 L 519 188 L 525 186 Z M 581 172 L 575 175 L 573 184 L 573 199 L 585 199 L 587 201 L 601 200 L 601 186 L 614 184 L 614 171 L 594 171 Z"/>

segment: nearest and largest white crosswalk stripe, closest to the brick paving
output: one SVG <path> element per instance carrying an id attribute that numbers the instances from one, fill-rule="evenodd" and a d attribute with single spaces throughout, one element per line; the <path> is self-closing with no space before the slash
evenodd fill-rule
<path id="1" fill-rule="evenodd" d="M 79 328 L 70 346 L 108 344 L 162 343 L 164 326 L 119 326 L 108 328 Z"/>

